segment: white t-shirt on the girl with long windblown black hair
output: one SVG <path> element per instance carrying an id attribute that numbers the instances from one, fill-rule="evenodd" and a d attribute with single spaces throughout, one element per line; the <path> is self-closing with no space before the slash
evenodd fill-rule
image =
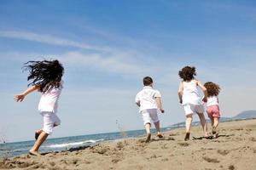
<path id="1" fill-rule="evenodd" d="M 52 88 L 42 94 L 38 105 L 38 111 L 49 111 L 54 113 L 57 112 L 58 100 L 61 95 L 62 87 L 63 81 L 61 81 L 61 85 L 59 88 Z"/>

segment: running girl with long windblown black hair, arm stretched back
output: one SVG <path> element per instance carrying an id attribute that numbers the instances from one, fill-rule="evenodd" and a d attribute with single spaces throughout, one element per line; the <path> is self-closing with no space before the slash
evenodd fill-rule
<path id="1" fill-rule="evenodd" d="M 36 131 L 36 142 L 29 150 L 29 153 L 34 156 L 40 156 L 38 149 L 48 135 L 53 132 L 53 127 L 61 124 L 61 120 L 56 115 L 58 99 L 61 95 L 61 89 L 63 82 L 61 77 L 64 72 L 64 68 L 58 60 L 43 60 L 43 61 L 28 61 L 24 68 L 29 71 L 27 80 L 32 80 L 28 84 L 30 86 L 22 94 L 15 95 L 15 100 L 21 102 L 27 94 L 33 91 L 42 93 L 38 111 L 44 119 L 44 126 L 42 129 Z"/>

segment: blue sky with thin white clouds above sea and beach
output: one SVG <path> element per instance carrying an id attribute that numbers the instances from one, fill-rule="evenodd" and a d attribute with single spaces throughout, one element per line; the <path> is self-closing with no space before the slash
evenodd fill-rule
<path id="1" fill-rule="evenodd" d="M 184 121 L 177 72 L 195 65 L 217 82 L 223 116 L 256 100 L 255 1 L 1 1 L 0 135 L 29 140 L 42 126 L 40 94 L 22 103 L 28 60 L 59 59 L 65 88 L 53 137 L 143 128 L 134 98 L 145 76 L 163 96 L 162 127 Z M 196 119 L 196 118 L 195 118 Z"/>

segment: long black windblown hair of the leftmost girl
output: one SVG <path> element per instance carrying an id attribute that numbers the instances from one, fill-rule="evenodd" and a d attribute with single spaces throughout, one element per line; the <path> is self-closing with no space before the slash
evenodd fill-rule
<path id="1" fill-rule="evenodd" d="M 51 88 L 61 86 L 61 77 L 64 68 L 58 60 L 28 61 L 23 66 L 24 71 L 29 71 L 27 81 L 32 80 L 27 86 L 40 86 L 40 91 L 45 93 Z"/>

